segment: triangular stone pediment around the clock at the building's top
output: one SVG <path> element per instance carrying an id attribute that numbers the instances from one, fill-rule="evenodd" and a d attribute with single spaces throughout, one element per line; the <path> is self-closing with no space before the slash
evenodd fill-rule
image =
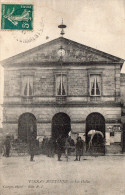
<path id="1" fill-rule="evenodd" d="M 4 60 L 3 65 L 6 64 L 37 64 L 45 62 L 58 62 L 60 47 L 65 49 L 63 62 L 65 63 L 85 63 L 85 62 L 120 62 L 121 59 L 102 51 L 93 49 L 91 47 L 79 44 L 60 37 L 48 43 L 42 44 L 38 47 L 30 49 L 26 52 L 13 56 Z"/>

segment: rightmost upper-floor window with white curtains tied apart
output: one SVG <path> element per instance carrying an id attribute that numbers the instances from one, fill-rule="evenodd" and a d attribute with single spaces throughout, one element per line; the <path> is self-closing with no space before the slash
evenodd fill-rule
<path id="1" fill-rule="evenodd" d="M 100 96 L 101 95 L 101 75 L 90 74 L 90 95 Z"/>

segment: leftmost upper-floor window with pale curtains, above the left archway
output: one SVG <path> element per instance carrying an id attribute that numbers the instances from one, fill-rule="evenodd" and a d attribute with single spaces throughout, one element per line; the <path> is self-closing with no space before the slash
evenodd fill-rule
<path id="1" fill-rule="evenodd" d="M 32 76 L 23 76 L 22 95 L 27 96 L 27 97 L 33 95 L 33 77 Z"/>

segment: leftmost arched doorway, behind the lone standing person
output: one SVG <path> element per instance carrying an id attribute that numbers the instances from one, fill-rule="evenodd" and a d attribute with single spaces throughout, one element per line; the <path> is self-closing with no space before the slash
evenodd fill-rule
<path id="1" fill-rule="evenodd" d="M 23 142 L 28 142 L 31 134 L 37 136 L 36 118 L 31 113 L 24 113 L 18 120 L 18 138 Z"/>

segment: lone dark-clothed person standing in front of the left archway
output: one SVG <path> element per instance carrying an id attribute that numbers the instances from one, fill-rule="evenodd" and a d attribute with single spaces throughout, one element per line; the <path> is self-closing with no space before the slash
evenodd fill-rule
<path id="1" fill-rule="evenodd" d="M 35 149 L 36 149 L 36 139 L 34 134 L 32 133 L 31 138 L 29 140 L 30 161 L 34 161 Z"/>

